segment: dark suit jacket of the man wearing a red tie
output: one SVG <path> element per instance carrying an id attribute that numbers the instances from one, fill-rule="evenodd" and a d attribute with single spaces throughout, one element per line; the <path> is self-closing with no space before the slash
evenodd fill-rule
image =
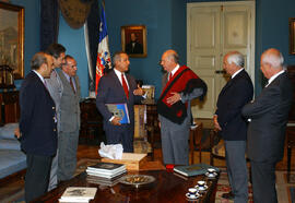
<path id="1" fill-rule="evenodd" d="M 117 128 L 109 122 L 109 119 L 113 117 L 111 112 L 107 109 L 105 104 L 118 104 L 126 103 L 129 112 L 130 124 L 134 128 L 134 103 L 139 103 L 143 97 L 133 95 L 133 91 L 137 88 L 135 80 L 126 74 L 127 82 L 129 85 L 129 99 L 123 92 L 123 87 L 116 75 L 115 71 L 110 71 L 108 74 L 104 75 L 98 84 L 97 96 L 96 96 L 96 107 L 104 117 L 104 128 Z"/>

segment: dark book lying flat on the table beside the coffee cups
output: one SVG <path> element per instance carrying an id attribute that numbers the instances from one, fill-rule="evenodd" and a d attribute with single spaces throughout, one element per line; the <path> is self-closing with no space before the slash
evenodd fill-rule
<path id="1" fill-rule="evenodd" d="M 174 171 L 190 177 L 190 176 L 198 176 L 198 175 L 204 175 L 208 171 L 208 168 L 214 168 L 217 172 L 220 169 L 214 166 L 210 166 L 208 164 L 194 164 L 190 166 L 176 166 L 174 167 Z"/>

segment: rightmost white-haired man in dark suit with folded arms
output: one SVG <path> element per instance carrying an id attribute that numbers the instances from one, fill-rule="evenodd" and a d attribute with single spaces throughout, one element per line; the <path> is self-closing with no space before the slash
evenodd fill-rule
<path id="1" fill-rule="evenodd" d="M 269 80 L 268 84 L 241 110 L 250 119 L 247 151 L 251 162 L 255 203 L 278 202 L 275 165 L 284 155 L 285 129 L 293 99 L 293 87 L 283 62 L 278 49 L 262 53 L 260 69 Z"/>

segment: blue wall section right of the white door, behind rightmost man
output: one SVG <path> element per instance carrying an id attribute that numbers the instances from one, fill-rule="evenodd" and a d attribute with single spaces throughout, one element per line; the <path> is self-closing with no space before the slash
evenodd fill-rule
<path id="1" fill-rule="evenodd" d="M 278 48 L 285 64 L 295 64 L 295 56 L 288 55 L 288 17 L 295 17 L 294 0 L 257 0 L 256 2 L 256 91 L 264 84 L 260 71 L 260 56 L 268 48 Z"/>

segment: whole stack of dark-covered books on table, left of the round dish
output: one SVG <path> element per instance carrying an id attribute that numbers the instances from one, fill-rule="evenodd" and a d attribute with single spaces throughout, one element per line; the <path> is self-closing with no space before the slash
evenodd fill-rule
<path id="1" fill-rule="evenodd" d="M 122 164 L 114 164 L 114 163 L 98 163 L 94 166 L 88 166 L 86 169 L 88 175 L 88 180 L 94 183 L 105 182 L 113 183 L 115 179 L 118 179 L 123 174 L 126 174 L 126 166 Z"/>

